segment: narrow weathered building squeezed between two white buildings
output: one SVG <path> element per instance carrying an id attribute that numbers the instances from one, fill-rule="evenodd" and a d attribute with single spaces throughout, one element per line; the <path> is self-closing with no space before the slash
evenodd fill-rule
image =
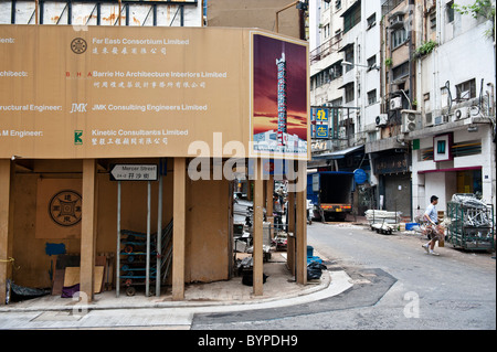
<path id="1" fill-rule="evenodd" d="M 420 1 L 422 2 L 422 1 Z M 366 143 L 371 179 L 377 184 L 377 206 L 412 217 L 411 152 L 402 120 L 416 115 L 416 67 L 413 62 L 419 8 L 414 0 L 382 1 L 379 20 L 380 109 L 374 125 L 377 139 Z M 371 126 L 372 129 L 372 126 Z M 374 136 L 371 132 L 371 137 Z"/>

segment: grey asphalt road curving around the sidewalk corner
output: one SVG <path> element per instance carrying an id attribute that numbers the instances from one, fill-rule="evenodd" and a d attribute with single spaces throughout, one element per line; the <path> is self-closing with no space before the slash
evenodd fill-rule
<path id="1" fill-rule="evenodd" d="M 195 314 L 192 329 L 495 330 L 493 254 L 435 248 L 420 235 L 381 235 L 364 226 L 313 223 L 308 245 L 355 286 L 336 297 L 284 309 Z"/>

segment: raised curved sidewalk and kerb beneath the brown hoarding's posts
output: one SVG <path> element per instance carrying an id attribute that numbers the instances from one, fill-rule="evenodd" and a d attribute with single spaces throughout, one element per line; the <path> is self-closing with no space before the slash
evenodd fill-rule
<path id="1" fill-rule="evenodd" d="M 35 299 L 12 302 L 0 307 L 1 312 L 34 312 L 34 311 L 73 311 L 105 309 L 149 309 L 149 308 L 201 308 L 205 311 L 246 310 L 284 307 L 305 303 L 338 295 L 349 289 L 352 284 L 345 271 L 324 270 L 319 280 L 309 280 L 307 285 L 294 281 L 286 267 L 286 262 L 276 259 L 264 264 L 264 274 L 268 275 L 264 284 L 263 296 L 254 296 L 253 288 L 242 284 L 241 277 L 226 281 L 211 284 L 191 284 L 186 286 L 184 300 L 173 301 L 170 288 L 159 297 L 145 297 L 137 291 L 133 297 L 116 291 L 105 291 L 95 295 L 94 300 L 85 303 L 77 299 L 44 296 Z M 279 258 L 279 259 L 278 259 Z"/>

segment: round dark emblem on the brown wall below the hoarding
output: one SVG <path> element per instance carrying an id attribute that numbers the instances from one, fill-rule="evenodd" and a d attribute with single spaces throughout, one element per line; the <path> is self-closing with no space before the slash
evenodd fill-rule
<path id="1" fill-rule="evenodd" d="M 81 194 L 65 190 L 56 193 L 49 203 L 50 217 L 59 225 L 73 226 L 81 221 Z"/>

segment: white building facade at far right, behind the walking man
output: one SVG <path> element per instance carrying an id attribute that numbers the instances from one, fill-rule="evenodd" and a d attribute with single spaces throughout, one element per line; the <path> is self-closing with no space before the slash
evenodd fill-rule
<path id="1" fill-rule="evenodd" d="M 436 46 L 416 62 L 423 124 L 408 137 L 413 147 L 413 209 L 424 210 L 430 196 L 437 195 L 438 211 L 446 211 L 455 193 L 478 194 L 495 206 L 493 23 L 482 15 L 462 14 L 453 1 L 426 2 L 429 28 L 423 40 Z M 459 6 L 473 3 L 457 1 Z"/>

